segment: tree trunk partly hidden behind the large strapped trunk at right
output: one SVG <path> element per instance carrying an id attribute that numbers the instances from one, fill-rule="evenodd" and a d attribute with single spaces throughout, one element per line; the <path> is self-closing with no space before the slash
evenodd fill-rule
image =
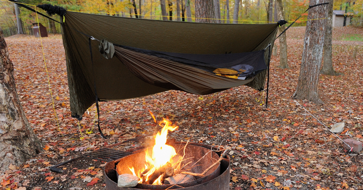
<path id="1" fill-rule="evenodd" d="M 324 54 L 323 54 L 323 68 L 320 71 L 320 74 L 327 75 L 340 75 L 342 73 L 338 73 L 333 69 L 333 61 L 332 61 L 332 53 L 331 53 L 331 40 L 332 40 L 332 27 L 333 27 L 333 0 L 329 1 L 328 7 L 328 17 L 327 23 L 325 26 L 325 38 L 324 38 Z"/>

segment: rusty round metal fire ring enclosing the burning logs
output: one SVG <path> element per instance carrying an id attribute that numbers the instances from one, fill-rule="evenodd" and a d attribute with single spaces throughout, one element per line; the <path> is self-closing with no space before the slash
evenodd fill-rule
<path id="1" fill-rule="evenodd" d="M 169 144 L 171 145 L 171 144 Z M 185 142 L 175 142 L 173 145 L 174 148 L 178 151 L 180 148 L 183 148 Z M 187 149 L 185 150 L 185 154 L 189 151 L 188 154 L 193 154 L 195 158 L 201 158 L 205 153 L 211 150 L 211 146 L 204 145 L 200 143 L 188 143 Z M 214 150 L 217 150 L 213 147 Z M 149 184 L 141 184 L 139 183 L 135 187 L 118 187 L 117 186 L 117 172 L 115 170 L 116 165 L 119 162 L 125 163 L 125 173 L 131 173 L 128 169 L 128 166 L 133 165 L 135 162 L 142 162 L 144 159 L 144 152 L 146 149 L 139 149 L 134 151 L 133 154 L 128 155 L 126 157 L 117 159 L 115 161 L 108 162 L 105 167 L 105 181 L 106 181 L 106 190 L 166 190 L 166 189 L 186 189 L 186 190 L 212 190 L 212 189 L 220 189 L 220 190 L 229 190 L 229 157 L 226 155 L 225 158 L 221 161 L 220 165 L 215 166 L 212 170 L 210 170 L 204 177 L 196 179 L 195 181 L 181 183 L 177 185 L 149 185 Z M 183 150 L 181 150 L 183 151 Z M 214 152 L 213 152 L 214 153 Z M 217 158 L 220 156 L 221 152 L 214 153 L 213 157 Z M 213 155 L 213 154 L 212 154 Z M 137 159 L 136 159 L 137 158 Z M 207 157 L 206 157 L 207 158 Z M 215 160 L 210 156 L 210 161 L 205 159 L 203 167 L 199 169 L 195 169 L 194 172 L 201 173 L 204 167 L 209 167 Z M 127 163 L 127 164 L 126 164 Z M 143 165 L 143 162 L 142 162 Z"/>

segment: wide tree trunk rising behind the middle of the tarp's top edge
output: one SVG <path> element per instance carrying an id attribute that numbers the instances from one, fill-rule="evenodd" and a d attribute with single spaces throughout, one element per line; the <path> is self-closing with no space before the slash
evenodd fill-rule
<path id="1" fill-rule="evenodd" d="M 195 0 L 195 21 L 199 23 L 217 23 L 213 0 Z"/>

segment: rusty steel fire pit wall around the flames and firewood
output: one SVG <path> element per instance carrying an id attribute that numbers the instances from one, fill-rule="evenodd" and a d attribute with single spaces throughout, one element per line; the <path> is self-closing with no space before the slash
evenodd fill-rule
<path id="1" fill-rule="evenodd" d="M 174 142 L 173 144 L 169 144 L 174 147 L 177 153 L 184 153 L 185 147 L 185 158 L 186 159 L 181 162 L 181 164 L 185 165 L 188 162 L 195 163 L 200 158 L 204 156 L 204 158 L 200 159 L 197 163 L 198 166 L 192 167 L 192 173 L 202 173 L 209 166 L 213 165 L 219 158 L 222 152 L 214 152 L 210 151 L 217 150 L 217 148 L 212 148 L 208 145 L 203 145 L 200 143 L 188 143 L 185 146 L 186 142 Z M 151 151 L 152 147 L 140 147 L 140 150 L 134 151 L 133 154 L 128 155 L 126 157 L 117 159 L 115 161 L 108 162 L 105 167 L 105 180 L 106 180 L 106 190 L 137 190 L 137 189 L 152 189 L 152 190 L 166 190 L 166 189 L 187 189 L 187 190 L 212 190 L 212 189 L 220 189 L 220 190 L 229 190 L 229 158 L 225 155 L 224 158 L 221 159 L 220 164 L 217 164 L 212 169 L 207 171 L 204 176 L 194 176 L 195 180 L 189 181 L 186 183 L 179 184 L 168 184 L 168 185 L 151 185 L 145 183 L 138 183 L 135 187 L 118 187 L 117 186 L 117 177 L 121 172 L 123 174 L 132 174 L 130 170 L 131 167 L 135 169 L 138 167 L 144 167 L 145 164 L 145 155 L 147 151 Z M 131 150 L 130 150 L 131 151 Z M 212 155 L 212 156 L 211 156 Z M 191 158 L 194 157 L 194 158 Z M 136 169 L 137 170 L 137 169 Z M 117 172 L 118 171 L 118 172 Z M 120 173 L 120 174 L 121 174 Z"/>

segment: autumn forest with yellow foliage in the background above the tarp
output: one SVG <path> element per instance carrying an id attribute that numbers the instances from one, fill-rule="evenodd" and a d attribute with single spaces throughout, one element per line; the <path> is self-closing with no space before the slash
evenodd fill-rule
<path id="1" fill-rule="evenodd" d="M 232 23 L 236 0 L 217 0 L 220 7 L 221 23 Z M 269 4 L 272 4 L 272 19 L 277 21 L 276 0 L 237 0 L 239 1 L 238 23 L 239 24 L 265 24 L 269 21 L 268 12 Z M 270 2 L 273 1 L 273 2 Z M 66 8 L 68 11 L 90 12 L 92 14 L 102 14 L 120 17 L 136 17 L 143 19 L 162 20 L 162 11 L 160 8 L 160 0 L 19 0 L 20 3 L 30 5 L 52 4 Z M 185 12 L 185 3 L 189 2 L 191 9 L 192 21 L 195 21 L 195 0 L 165 0 L 166 12 L 168 20 L 178 20 L 180 15 L 181 21 L 187 17 Z M 295 20 L 301 13 L 309 7 L 308 0 L 282 0 L 285 20 Z M 179 6 L 178 6 L 179 5 Z M 228 5 L 228 6 L 227 6 Z M 179 8 L 178 8 L 178 7 Z M 23 31 L 25 34 L 33 35 L 33 24 L 37 22 L 36 14 L 22 7 L 20 8 L 20 18 L 23 23 Z M 34 7 L 32 7 L 34 8 Z M 178 8 L 178 10 L 177 10 Z M 136 13 L 135 13 L 136 9 Z M 354 12 L 351 24 L 356 26 L 363 25 L 363 0 L 347 1 L 335 0 L 334 10 L 346 10 Z M 37 9 L 44 13 L 40 8 Z M 179 14 L 177 14 L 179 11 Z M 57 15 L 52 16 L 59 20 Z M 3 28 L 4 36 L 17 34 L 17 23 L 14 4 L 6 0 L 0 0 L 0 27 Z M 307 12 L 302 15 L 299 20 L 306 20 Z M 48 33 L 60 33 L 60 24 L 54 23 L 45 17 L 39 16 L 39 23 L 44 25 Z M 229 19 L 229 21 L 227 20 Z M 266 22 L 267 23 L 267 22 Z M 305 21 L 298 21 L 294 26 L 304 26 Z"/>

